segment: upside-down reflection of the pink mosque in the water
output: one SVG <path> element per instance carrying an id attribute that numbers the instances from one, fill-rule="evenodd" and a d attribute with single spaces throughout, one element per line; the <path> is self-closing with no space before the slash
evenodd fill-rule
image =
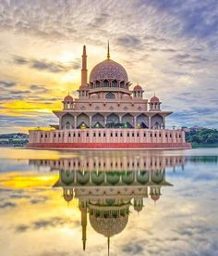
<path id="1" fill-rule="evenodd" d="M 146 199 L 156 203 L 166 181 L 165 169 L 185 164 L 183 156 L 145 155 L 123 152 L 121 155 L 95 151 L 84 157 L 59 160 L 33 160 L 38 166 L 59 171 L 54 187 L 62 187 L 63 198 L 79 199 L 83 250 L 86 249 L 87 219 L 91 227 L 107 237 L 121 233 L 128 222 L 130 210 L 142 211 Z"/>

